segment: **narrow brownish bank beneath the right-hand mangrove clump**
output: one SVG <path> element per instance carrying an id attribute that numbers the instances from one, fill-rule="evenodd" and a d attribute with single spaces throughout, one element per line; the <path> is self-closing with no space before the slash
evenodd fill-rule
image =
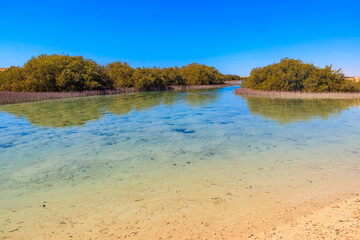
<path id="1" fill-rule="evenodd" d="M 308 93 L 308 92 L 286 92 L 286 91 L 260 91 L 248 88 L 235 89 L 235 93 L 242 96 L 256 96 L 269 98 L 301 98 L 301 99 L 360 99 L 359 93 Z"/>

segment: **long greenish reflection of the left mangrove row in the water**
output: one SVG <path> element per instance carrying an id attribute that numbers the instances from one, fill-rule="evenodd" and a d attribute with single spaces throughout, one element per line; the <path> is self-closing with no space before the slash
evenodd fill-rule
<path id="1" fill-rule="evenodd" d="M 214 102 L 217 97 L 216 89 L 147 92 L 10 104 L 1 106 L 0 110 L 26 118 L 39 127 L 68 127 L 82 126 L 103 117 L 105 113 L 123 115 L 131 111 L 144 111 L 159 105 L 172 106 L 180 102 L 196 107 Z"/>

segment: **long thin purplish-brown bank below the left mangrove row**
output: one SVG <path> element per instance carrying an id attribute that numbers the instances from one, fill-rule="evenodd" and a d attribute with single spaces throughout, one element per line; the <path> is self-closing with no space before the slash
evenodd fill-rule
<path id="1" fill-rule="evenodd" d="M 162 88 L 136 89 L 136 88 L 116 88 L 108 90 L 93 90 L 82 92 L 10 92 L 0 91 L 0 105 L 20 102 L 35 102 L 50 99 L 87 97 L 96 95 L 125 94 L 147 91 L 176 91 L 187 89 L 209 89 L 221 88 L 237 85 L 238 81 L 228 81 L 219 85 L 189 85 L 189 86 L 166 86 Z"/>

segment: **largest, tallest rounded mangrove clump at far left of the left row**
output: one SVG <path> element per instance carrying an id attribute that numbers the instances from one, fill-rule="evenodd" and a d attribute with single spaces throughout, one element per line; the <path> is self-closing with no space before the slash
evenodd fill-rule
<path id="1" fill-rule="evenodd" d="M 67 92 L 104 89 L 112 86 L 104 67 L 83 57 L 40 55 L 24 67 L 0 73 L 0 90 Z"/>

